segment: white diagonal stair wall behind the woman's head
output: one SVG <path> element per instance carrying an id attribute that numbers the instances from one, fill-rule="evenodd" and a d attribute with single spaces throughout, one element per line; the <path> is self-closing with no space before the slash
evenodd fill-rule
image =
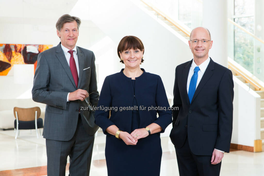
<path id="1" fill-rule="evenodd" d="M 115 50 L 122 37 L 139 37 L 145 47 L 145 61 L 141 67 L 146 72 L 160 75 L 166 91 L 173 94 L 175 68 L 192 59 L 191 50 L 182 36 L 139 8 L 138 1 L 133 2 L 79 0 L 70 14 L 95 23 L 114 41 Z M 116 51 L 114 54 L 118 58 Z M 115 72 L 120 72 L 122 66 L 118 60 L 114 62 L 118 65 Z"/>

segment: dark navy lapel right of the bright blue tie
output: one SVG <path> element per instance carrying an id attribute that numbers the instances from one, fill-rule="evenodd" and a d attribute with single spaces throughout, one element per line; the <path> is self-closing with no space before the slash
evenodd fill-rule
<path id="1" fill-rule="evenodd" d="M 214 61 L 210 58 L 210 62 L 209 62 L 208 66 L 207 66 L 207 68 L 206 68 L 206 70 L 204 72 L 204 75 L 202 76 L 202 79 L 201 79 L 200 83 L 198 84 L 198 86 L 197 86 L 197 88 L 195 90 L 194 97 L 192 98 L 192 102 L 194 101 L 196 96 L 199 94 L 201 89 L 204 87 L 205 83 L 213 75 L 213 73 L 214 73 L 213 70 L 214 70 Z"/>

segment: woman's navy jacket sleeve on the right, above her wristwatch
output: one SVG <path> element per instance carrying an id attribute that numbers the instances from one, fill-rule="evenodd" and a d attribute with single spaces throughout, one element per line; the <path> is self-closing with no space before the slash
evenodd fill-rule
<path id="1" fill-rule="evenodd" d="M 162 107 L 162 108 L 166 107 L 166 110 L 164 109 L 158 110 L 159 117 L 153 122 L 153 123 L 157 123 L 159 126 L 162 127 L 161 133 L 163 133 L 167 128 L 167 126 L 172 122 L 172 117 L 171 117 L 171 110 L 169 110 L 169 102 L 166 95 L 166 91 L 160 76 L 158 76 L 156 105 L 157 107 Z"/>

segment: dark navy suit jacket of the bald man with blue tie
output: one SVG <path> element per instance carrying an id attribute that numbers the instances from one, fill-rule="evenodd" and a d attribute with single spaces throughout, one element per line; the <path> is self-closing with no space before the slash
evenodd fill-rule
<path id="1" fill-rule="evenodd" d="M 232 72 L 211 58 L 196 88 L 192 102 L 187 94 L 188 73 L 192 60 L 178 65 L 173 89 L 171 141 L 181 148 L 188 142 L 195 155 L 212 155 L 214 149 L 229 152 L 232 124 L 234 83 Z"/>

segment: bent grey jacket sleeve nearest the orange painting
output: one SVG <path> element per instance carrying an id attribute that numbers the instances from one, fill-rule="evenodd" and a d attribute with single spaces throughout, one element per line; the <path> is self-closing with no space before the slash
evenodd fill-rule
<path id="1" fill-rule="evenodd" d="M 48 104 L 66 110 L 68 92 L 49 91 L 49 64 L 43 53 L 37 57 L 37 67 L 34 75 L 32 99 L 35 102 Z"/>

